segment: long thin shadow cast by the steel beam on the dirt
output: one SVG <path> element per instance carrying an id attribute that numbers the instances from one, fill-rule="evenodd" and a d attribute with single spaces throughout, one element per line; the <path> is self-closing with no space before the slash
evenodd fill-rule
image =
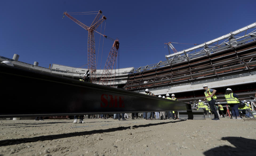
<path id="1" fill-rule="evenodd" d="M 182 122 L 185 120 L 179 120 L 179 121 L 170 121 L 170 122 L 161 122 L 161 123 L 149 123 L 146 125 L 135 125 L 134 128 L 139 127 L 149 127 L 149 126 L 156 126 L 156 125 L 163 125 L 168 123 L 176 123 L 176 122 Z M 27 143 L 27 142 L 37 142 L 37 141 L 45 141 L 45 140 L 54 140 L 54 139 L 61 139 L 61 138 L 69 138 L 69 137 L 76 137 L 76 136 L 82 136 L 82 135 L 91 135 L 91 134 L 97 134 L 97 133 L 106 133 L 106 132 L 114 132 L 114 131 L 121 131 L 125 129 L 130 129 L 131 126 L 127 127 L 117 127 L 117 128 L 109 128 L 104 130 L 92 130 L 92 131 L 83 131 L 83 132 L 73 132 L 73 133 L 64 133 L 64 134 L 55 134 L 55 135 L 46 135 L 46 136 L 39 136 L 39 137 L 33 137 L 33 138 L 20 138 L 20 139 L 6 139 L 0 141 L 0 146 L 8 146 L 8 145 L 15 145 L 20 143 Z"/>

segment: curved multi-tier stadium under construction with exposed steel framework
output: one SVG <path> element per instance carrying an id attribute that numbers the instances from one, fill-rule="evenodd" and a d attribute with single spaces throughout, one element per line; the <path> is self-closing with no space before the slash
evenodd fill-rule
<path id="1" fill-rule="evenodd" d="M 179 101 L 203 99 L 203 84 L 217 90 L 218 99 L 224 99 L 230 87 L 242 98 L 255 97 L 256 91 L 256 22 L 230 32 L 222 37 L 196 45 L 177 53 L 166 55 L 166 61 L 138 68 L 127 67 L 109 73 L 109 83 L 114 87 L 155 95 L 175 94 Z M 49 68 L 0 56 L 0 61 L 10 61 L 14 66 L 81 79 L 87 71 L 65 65 L 52 64 Z M 99 84 L 103 69 L 96 71 Z"/>

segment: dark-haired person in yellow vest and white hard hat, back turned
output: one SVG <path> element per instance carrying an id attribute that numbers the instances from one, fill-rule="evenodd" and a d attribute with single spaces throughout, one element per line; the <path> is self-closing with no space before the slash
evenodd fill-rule
<path id="1" fill-rule="evenodd" d="M 230 88 L 226 89 L 226 93 L 224 96 L 226 98 L 227 104 L 231 108 L 233 119 L 242 119 L 239 117 L 238 111 L 238 104 L 240 103 L 240 101 L 238 100 L 239 97 L 236 94 L 234 94 L 232 89 Z"/>

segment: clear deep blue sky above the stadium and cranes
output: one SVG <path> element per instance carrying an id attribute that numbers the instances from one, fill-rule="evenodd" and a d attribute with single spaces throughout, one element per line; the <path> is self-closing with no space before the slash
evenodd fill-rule
<path id="1" fill-rule="evenodd" d="M 37 61 L 42 67 L 87 64 L 88 32 L 71 19 L 62 19 L 63 12 L 102 10 L 107 18 L 105 34 L 120 42 L 119 67 L 136 68 L 165 61 L 164 43 L 169 41 L 203 43 L 256 22 L 255 5 L 255 0 L 1 1 L 0 55 L 19 54 L 19 61 Z M 73 17 L 90 26 L 95 15 Z M 96 57 L 99 37 L 95 33 Z M 112 45 L 105 39 L 97 69 L 103 69 Z M 178 51 L 187 49 L 174 46 Z"/>

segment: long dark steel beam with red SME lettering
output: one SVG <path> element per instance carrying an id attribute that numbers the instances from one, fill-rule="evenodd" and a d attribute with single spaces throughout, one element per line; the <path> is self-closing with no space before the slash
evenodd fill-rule
<path id="1" fill-rule="evenodd" d="M 190 110 L 185 102 L 0 64 L 2 117 Z"/>

